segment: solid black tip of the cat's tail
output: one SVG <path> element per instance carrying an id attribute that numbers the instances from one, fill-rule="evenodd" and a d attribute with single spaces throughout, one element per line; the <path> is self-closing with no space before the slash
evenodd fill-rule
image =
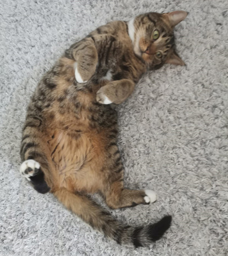
<path id="1" fill-rule="evenodd" d="M 152 241 L 157 241 L 160 239 L 166 230 L 171 225 L 172 217 L 170 215 L 164 216 L 161 220 L 159 220 L 157 223 L 152 224 L 149 226 L 149 236 Z"/>

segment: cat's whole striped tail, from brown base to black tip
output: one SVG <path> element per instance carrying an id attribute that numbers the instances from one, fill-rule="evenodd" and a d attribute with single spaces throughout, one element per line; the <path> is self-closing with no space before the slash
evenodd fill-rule
<path id="1" fill-rule="evenodd" d="M 119 244 L 134 244 L 135 247 L 149 246 L 160 239 L 170 227 L 171 216 L 145 227 L 124 226 L 89 198 L 69 192 L 65 188 L 54 192 L 66 208 L 81 217 L 88 225 L 104 233 Z"/>

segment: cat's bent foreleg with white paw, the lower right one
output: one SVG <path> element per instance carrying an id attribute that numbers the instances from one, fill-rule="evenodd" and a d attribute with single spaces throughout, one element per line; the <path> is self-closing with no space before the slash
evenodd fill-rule
<path id="1" fill-rule="evenodd" d="M 97 91 L 97 101 L 101 104 L 120 104 L 134 91 L 135 83 L 130 79 L 110 81 Z"/>

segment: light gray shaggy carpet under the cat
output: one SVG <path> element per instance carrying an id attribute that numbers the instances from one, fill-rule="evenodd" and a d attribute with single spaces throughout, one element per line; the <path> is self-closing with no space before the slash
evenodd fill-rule
<path id="1" fill-rule="evenodd" d="M 118 107 L 126 187 L 154 189 L 158 201 L 113 216 L 130 225 L 173 216 L 164 238 L 135 250 L 29 186 L 21 127 L 37 82 L 71 43 L 110 20 L 181 9 L 190 12 L 175 29 L 187 66 L 144 75 Z M 228 255 L 228 2 L 2 0 L 0 26 L 0 255 Z"/>

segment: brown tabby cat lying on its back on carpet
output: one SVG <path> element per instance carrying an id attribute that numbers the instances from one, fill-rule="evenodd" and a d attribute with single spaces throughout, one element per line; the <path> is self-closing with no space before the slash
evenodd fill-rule
<path id="1" fill-rule="evenodd" d="M 111 209 L 157 199 L 152 190 L 124 188 L 112 105 L 125 101 L 147 70 L 185 64 L 175 52 L 173 29 L 186 16 L 146 13 L 99 27 L 65 51 L 27 108 L 20 173 L 37 192 L 53 193 L 119 244 L 148 246 L 170 227 L 171 216 L 146 227 L 125 226 L 88 197 L 100 193 Z"/>

